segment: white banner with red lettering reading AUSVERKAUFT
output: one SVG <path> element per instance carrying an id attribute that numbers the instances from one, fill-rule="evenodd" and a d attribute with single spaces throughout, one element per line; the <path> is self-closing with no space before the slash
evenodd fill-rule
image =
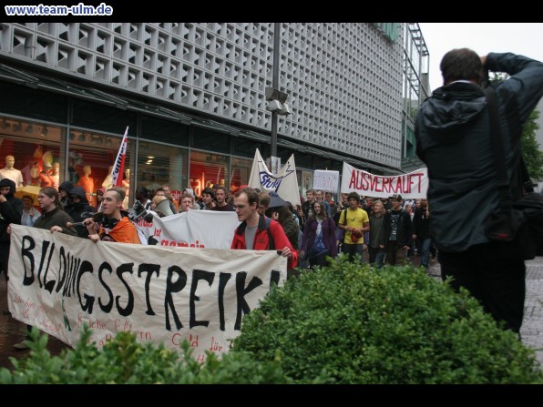
<path id="1" fill-rule="evenodd" d="M 394 194 L 402 198 L 426 198 L 428 172 L 417 169 L 398 176 L 374 175 L 343 162 L 342 188 L 344 193 L 358 192 L 361 196 L 388 198 Z"/>

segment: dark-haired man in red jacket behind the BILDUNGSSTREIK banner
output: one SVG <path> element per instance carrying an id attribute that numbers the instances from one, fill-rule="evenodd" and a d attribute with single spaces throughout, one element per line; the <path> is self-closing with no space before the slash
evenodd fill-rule
<path id="1" fill-rule="evenodd" d="M 266 218 L 257 211 L 259 196 L 253 188 L 241 188 L 234 194 L 234 209 L 241 225 L 236 229 L 231 249 L 251 249 L 281 251 L 288 258 L 287 269 L 292 270 L 298 264 L 298 251 L 292 248 L 282 226 L 275 220 L 268 220 L 272 242 L 266 228 Z M 270 247 L 270 243 L 271 246 Z M 281 249 L 282 248 L 282 249 Z"/>

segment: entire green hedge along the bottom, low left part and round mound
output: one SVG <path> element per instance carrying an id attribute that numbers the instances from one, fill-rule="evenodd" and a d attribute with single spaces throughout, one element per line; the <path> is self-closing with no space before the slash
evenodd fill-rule
<path id="1" fill-rule="evenodd" d="M 128 332 L 98 349 L 87 328 L 76 349 L 51 356 L 47 335 L 31 335 L 30 354 L 11 358 L 0 383 L 543 383 L 535 352 L 466 291 L 411 266 L 345 259 L 274 287 L 220 360 Z"/>

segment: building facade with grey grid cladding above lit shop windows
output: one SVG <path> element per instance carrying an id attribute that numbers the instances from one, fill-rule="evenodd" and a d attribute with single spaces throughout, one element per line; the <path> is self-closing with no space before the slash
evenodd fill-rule
<path id="1" fill-rule="evenodd" d="M 199 195 L 210 185 L 239 187 L 255 149 L 270 156 L 264 91 L 277 63 L 292 107 L 278 120 L 277 155 L 284 163 L 294 154 L 301 194 L 315 169 L 341 173 L 343 161 L 403 172 L 406 100 L 411 86 L 416 103 L 424 93 L 423 48 L 406 49 L 418 25 L 280 26 L 274 33 L 273 23 L 0 23 L 0 167 L 14 156 L 26 185 L 38 185 L 36 173 L 57 162 L 60 181 L 92 178 L 85 187 L 94 197 L 128 127 L 130 198 L 138 185 Z"/>

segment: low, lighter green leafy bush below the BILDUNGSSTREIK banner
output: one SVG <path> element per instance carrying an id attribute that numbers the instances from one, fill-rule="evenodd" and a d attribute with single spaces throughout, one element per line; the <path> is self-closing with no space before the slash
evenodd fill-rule
<path id="1" fill-rule="evenodd" d="M 289 383 L 277 361 L 254 362 L 242 352 L 216 354 L 206 351 L 203 363 L 191 356 L 188 341 L 180 354 L 162 344 L 139 343 L 129 332 L 119 332 L 102 349 L 89 344 L 92 331 L 82 330 L 76 349 L 52 357 L 46 350 L 47 335 L 36 328 L 27 341 L 30 354 L 11 358 L 14 369 L 0 369 L 2 384 L 220 384 Z"/>

